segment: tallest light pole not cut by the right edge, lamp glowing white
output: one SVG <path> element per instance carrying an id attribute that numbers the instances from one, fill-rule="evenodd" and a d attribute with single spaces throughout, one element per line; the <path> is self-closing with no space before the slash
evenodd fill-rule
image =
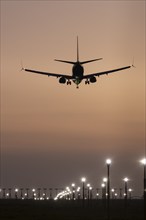
<path id="1" fill-rule="evenodd" d="M 111 165 L 111 159 L 106 160 L 107 164 L 107 217 L 108 220 L 110 219 L 110 165 Z"/>

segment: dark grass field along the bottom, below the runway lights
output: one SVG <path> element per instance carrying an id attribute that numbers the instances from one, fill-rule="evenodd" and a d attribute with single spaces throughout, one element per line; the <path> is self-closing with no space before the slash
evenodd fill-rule
<path id="1" fill-rule="evenodd" d="M 126 211 L 127 210 L 127 211 Z M 106 203 L 102 200 L 34 201 L 0 200 L 1 220 L 106 220 Z M 143 201 L 111 200 L 110 220 L 144 220 Z"/>

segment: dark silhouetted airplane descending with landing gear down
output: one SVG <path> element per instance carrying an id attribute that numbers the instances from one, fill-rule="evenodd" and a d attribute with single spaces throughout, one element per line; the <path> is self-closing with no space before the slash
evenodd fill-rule
<path id="1" fill-rule="evenodd" d="M 118 68 L 118 69 L 112 69 L 112 70 L 107 70 L 107 71 L 103 71 L 103 72 L 97 72 L 97 73 L 91 73 L 91 74 L 84 75 L 83 65 L 86 64 L 86 63 L 99 61 L 99 60 L 102 60 L 102 58 L 87 60 L 87 61 L 82 61 L 82 62 L 79 61 L 79 45 L 78 45 L 78 37 L 77 37 L 77 61 L 74 62 L 74 61 L 66 61 L 66 60 L 57 60 L 57 59 L 55 59 L 55 61 L 72 64 L 73 65 L 72 75 L 66 75 L 66 74 L 62 74 L 62 73 L 60 74 L 60 73 L 42 72 L 42 71 L 39 71 L 39 70 L 31 70 L 31 69 L 25 69 L 25 68 L 22 68 L 22 70 L 27 71 L 27 72 L 31 72 L 31 73 L 37 73 L 37 74 L 57 77 L 57 78 L 59 78 L 59 83 L 61 83 L 61 84 L 71 85 L 71 81 L 73 81 L 76 84 L 76 88 L 79 88 L 79 84 L 84 79 L 85 79 L 85 84 L 95 83 L 97 81 L 96 76 L 99 77 L 101 75 L 108 75 L 108 74 L 113 73 L 113 72 L 118 72 L 118 71 L 121 71 L 121 70 L 126 70 L 126 69 L 131 68 L 131 66 L 125 66 L 125 67 L 121 67 L 121 68 Z"/>

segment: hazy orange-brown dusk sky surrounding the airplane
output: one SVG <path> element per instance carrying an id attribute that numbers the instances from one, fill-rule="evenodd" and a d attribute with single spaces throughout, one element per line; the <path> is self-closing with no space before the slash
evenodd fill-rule
<path id="1" fill-rule="evenodd" d="M 127 176 L 142 194 L 145 1 L 1 1 L 1 187 L 100 187 Z M 79 37 L 85 74 L 131 68 L 79 89 L 23 67 L 72 74 Z"/>

